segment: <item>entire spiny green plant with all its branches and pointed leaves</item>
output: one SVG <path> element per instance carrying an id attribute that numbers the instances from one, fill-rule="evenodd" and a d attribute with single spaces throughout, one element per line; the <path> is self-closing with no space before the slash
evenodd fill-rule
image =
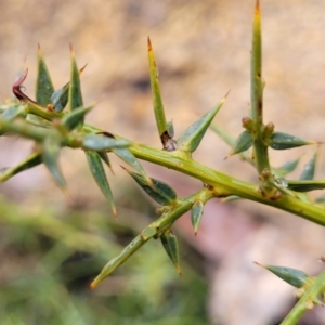
<path id="1" fill-rule="evenodd" d="M 91 173 L 106 197 L 114 214 L 116 214 L 115 202 L 103 164 L 105 162 L 110 168 L 107 154 L 116 155 L 134 169 L 136 172 L 128 170 L 128 173 L 135 180 L 140 187 L 160 205 L 157 209 L 157 218 L 153 222 L 148 222 L 148 225 L 133 240 L 126 245 L 119 253 L 117 253 L 119 247 L 115 247 L 116 249 L 110 247 L 112 243 L 109 240 L 105 242 L 103 238 L 95 239 L 100 240 L 105 256 L 109 257 L 110 260 L 91 282 L 90 288 L 95 288 L 141 247 L 147 247 L 145 245 L 147 242 L 153 242 L 152 239 L 157 238 L 160 238 L 177 271 L 181 273 L 179 245 L 171 232 L 171 226 L 185 212 L 191 211 L 191 219 L 194 232 L 196 233 L 203 218 L 205 204 L 212 198 L 220 199 L 223 203 L 237 198 L 249 199 L 291 212 L 323 226 L 325 225 L 324 205 L 314 202 L 308 196 L 308 192 L 310 191 L 325 188 L 325 181 L 314 180 L 317 154 L 306 165 L 299 180 L 286 180 L 284 178 L 297 168 L 299 159 L 290 160 L 281 168 L 273 167 L 269 159 L 269 147 L 288 150 L 301 145 L 316 144 L 317 142 L 306 141 L 284 132 L 274 132 L 274 123 L 264 123 L 263 121 L 263 89 L 265 82 L 262 77 L 262 36 L 259 1 L 257 1 L 252 26 L 250 117 L 243 118 L 243 128 L 245 130 L 238 132 L 239 136 L 237 140 L 234 140 L 233 136 L 219 127 L 211 126 L 224 100 L 187 127 L 178 140 L 174 140 L 172 122 L 168 123 L 166 120 L 158 80 L 158 69 L 150 40 L 148 61 L 153 109 L 162 150 L 135 143 L 121 135 L 113 134 L 84 122 L 87 113 L 94 105 L 83 105 L 80 75 L 84 67 L 80 70 L 78 69 L 73 50 L 70 50 L 70 80 L 64 87 L 54 91 L 49 69 L 39 50 L 36 101 L 28 98 L 22 91 L 22 84 L 28 73 L 26 69 L 13 84 L 13 93 L 16 96 L 16 101 L 13 101 L 9 106 L 1 107 L 0 110 L 1 135 L 18 135 L 29 139 L 36 144 L 36 152 L 34 154 L 21 164 L 2 171 L 0 182 L 8 181 L 23 170 L 44 164 L 57 185 L 66 192 L 66 183 L 58 164 L 60 152 L 63 147 L 81 148 L 86 152 Z M 232 147 L 229 156 L 239 154 L 256 168 L 259 180 L 257 183 L 235 179 L 232 176 L 224 174 L 219 170 L 199 164 L 192 157 L 192 153 L 199 146 L 209 127 Z M 250 147 L 252 148 L 251 154 L 247 153 Z M 216 151 L 214 147 L 211 146 L 211 148 Z M 195 178 L 203 183 L 202 188 L 187 197 L 179 197 L 171 186 L 162 181 L 152 179 L 140 160 L 164 166 Z M 51 220 L 51 222 L 54 222 L 52 229 L 57 226 L 58 221 Z M 68 233 L 70 229 L 63 226 L 62 231 Z M 52 236 L 54 235 L 55 232 Z M 81 247 L 84 246 L 87 250 L 87 235 L 79 233 L 76 235 L 76 238 L 78 238 L 76 242 L 79 245 L 82 242 Z M 80 240 L 81 238 L 82 240 Z M 63 244 L 69 247 L 72 239 L 67 235 L 63 239 L 58 239 L 57 237 L 55 239 L 60 242 L 60 245 L 55 248 L 57 251 L 54 250 L 55 253 L 66 253 L 65 249 L 63 249 Z M 73 243 L 75 242 L 73 240 Z M 74 248 L 76 247 L 74 246 Z M 52 253 L 54 255 L 54 252 Z M 94 252 L 91 251 L 91 253 Z M 103 255 L 98 253 L 98 257 L 103 258 Z M 46 259 L 46 262 L 48 262 L 47 268 L 51 268 L 51 265 L 53 268 L 52 258 Z M 61 262 L 63 262 L 63 258 Z M 102 264 L 103 260 L 101 259 L 98 262 Z M 55 264 L 56 266 L 57 263 Z M 323 273 L 316 277 L 311 277 L 302 271 L 289 268 L 271 265 L 264 268 L 301 289 L 300 300 L 282 324 L 296 324 L 307 310 L 315 303 L 322 302 L 325 296 Z M 42 290 L 47 292 L 53 290 L 53 292 L 51 291 L 53 297 L 65 301 L 65 308 L 70 308 L 70 313 L 73 314 L 72 300 L 66 295 L 65 288 L 61 287 L 58 291 L 54 291 L 52 284 L 57 282 L 57 280 L 52 278 L 49 274 L 47 270 L 39 274 L 40 280 L 43 281 L 44 278 L 46 286 L 48 287 L 47 290 L 39 287 L 34 288 L 38 290 L 38 297 L 43 297 L 42 295 L 44 294 Z M 24 288 L 24 286 L 26 286 L 24 282 L 23 284 L 17 284 L 20 288 Z M 4 289 L 10 290 L 10 288 Z M 26 297 L 22 296 L 18 299 L 26 299 Z M 64 313 L 64 310 L 61 312 Z M 164 322 L 166 322 L 166 318 Z M 172 324 L 172 320 L 168 324 Z"/>

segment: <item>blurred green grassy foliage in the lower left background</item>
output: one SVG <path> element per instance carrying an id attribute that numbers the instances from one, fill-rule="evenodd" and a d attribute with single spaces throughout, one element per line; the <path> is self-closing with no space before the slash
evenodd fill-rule
<path id="1" fill-rule="evenodd" d="M 117 223 L 96 208 L 63 211 L 44 202 L 31 212 L 1 196 L 0 210 L 0 255 L 6 258 L 1 324 L 208 323 L 202 274 L 183 260 L 186 274 L 180 281 L 158 242 L 144 247 L 104 290 L 88 289 L 105 260 L 122 248 L 116 238 L 121 243 L 134 235 L 127 210 Z M 148 216 L 139 210 L 138 218 Z"/>

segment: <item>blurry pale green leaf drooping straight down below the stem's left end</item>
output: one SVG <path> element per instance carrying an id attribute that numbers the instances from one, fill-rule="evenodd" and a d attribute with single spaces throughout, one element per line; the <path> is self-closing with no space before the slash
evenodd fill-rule
<path id="1" fill-rule="evenodd" d="M 56 184 L 64 192 L 66 191 L 66 183 L 63 178 L 62 171 L 58 167 L 58 155 L 60 155 L 60 143 L 56 139 L 48 138 L 46 139 L 42 146 L 42 158 L 48 167 L 49 171 L 53 176 Z"/>

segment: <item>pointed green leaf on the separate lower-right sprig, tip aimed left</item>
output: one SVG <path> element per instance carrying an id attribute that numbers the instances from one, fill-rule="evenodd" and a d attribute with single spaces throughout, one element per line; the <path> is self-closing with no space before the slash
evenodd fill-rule
<path id="1" fill-rule="evenodd" d="M 303 287 L 308 280 L 311 278 L 308 274 L 300 270 L 290 269 L 290 268 L 283 268 L 283 266 L 275 266 L 275 265 L 263 265 L 256 262 L 256 264 L 271 271 L 280 278 L 284 280 L 286 283 L 290 284 L 296 288 Z"/>

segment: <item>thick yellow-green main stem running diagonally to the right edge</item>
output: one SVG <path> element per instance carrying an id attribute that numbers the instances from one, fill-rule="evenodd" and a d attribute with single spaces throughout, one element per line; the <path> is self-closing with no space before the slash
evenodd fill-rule
<path id="1" fill-rule="evenodd" d="M 18 133 L 26 138 L 35 139 L 39 138 L 40 140 L 44 139 L 44 132 L 53 132 L 53 135 L 57 134 L 56 131 L 53 130 L 39 130 L 32 128 L 25 128 L 25 126 L 20 123 L 9 123 L 5 121 L 0 122 L 0 127 L 8 127 L 10 131 Z M 86 133 L 99 133 L 103 132 L 103 130 L 98 129 L 92 126 L 84 125 L 83 130 Z M 31 134 L 32 133 L 32 134 Z M 35 133 L 35 134 L 34 134 Z M 119 135 L 115 135 L 116 139 L 123 139 Z M 132 143 L 130 141 L 130 143 Z M 294 214 L 300 216 L 307 220 L 313 221 L 315 223 L 325 225 L 325 209 L 323 206 L 317 204 L 311 204 L 302 202 L 298 198 L 298 196 L 290 196 L 288 194 L 281 194 L 278 198 L 268 198 L 264 197 L 260 191 L 259 186 L 253 183 L 245 182 L 238 179 L 235 179 L 231 176 L 224 174 L 220 171 L 213 170 L 208 168 L 184 153 L 174 151 L 174 152 L 167 152 L 157 148 L 153 148 L 146 145 L 141 145 L 133 143 L 132 146 L 129 147 L 130 152 L 140 159 L 151 161 L 155 165 L 165 166 L 167 168 L 177 170 L 184 174 L 188 174 L 195 179 L 200 180 L 203 183 L 209 184 L 216 188 L 221 188 L 226 191 L 231 195 L 236 195 L 242 198 L 247 198 L 250 200 L 255 200 L 264 205 L 273 206 L 278 209 L 291 212 Z M 37 160 L 36 164 L 38 165 L 40 161 Z M 34 161 L 34 159 L 31 159 Z M 15 167 L 13 168 L 15 169 Z M 6 180 L 11 174 L 17 173 L 17 171 L 12 172 L 13 169 L 9 169 L 5 171 L 5 176 L 0 176 L 0 181 Z M 24 168 L 25 169 L 25 168 Z M 20 171 L 20 168 L 18 168 Z M 4 177 L 4 178 L 3 178 Z"/>

